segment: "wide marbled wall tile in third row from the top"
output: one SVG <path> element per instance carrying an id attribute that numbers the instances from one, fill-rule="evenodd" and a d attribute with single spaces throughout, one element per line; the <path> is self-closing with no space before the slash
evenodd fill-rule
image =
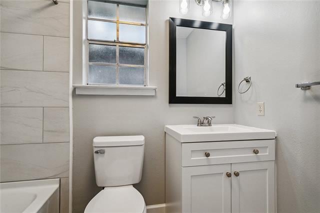
<path id="1" fill-rule="evenodd" d="M 68 106 L 69 73 L 0 70 L 1 106 Z"/>

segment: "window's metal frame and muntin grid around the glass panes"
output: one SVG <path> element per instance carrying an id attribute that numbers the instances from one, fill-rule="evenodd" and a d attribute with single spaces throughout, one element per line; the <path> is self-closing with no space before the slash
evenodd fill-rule
<path id="1" fill-rule="evenodd" d="M 148 86 L 148 14 L 147 14 L 147 5 L 139 5 L 139 4 L 131 4 L 131 3 L 122 3 L 117 1 L 98 1 L 98 0 L 91 0 L 91 1 L 98 1 L 98 2 L 105 2 L 105 3 L 113 3 L 116 4 L 116 20 L 110 19 L 103 19 L 103 18 L 91 18 L 88 17 L 88 1 L 86 0 L 86 8 L 85 8 L 85 77 L 86 85 L 110 85 L 110 86 Z M 136 6 L 142 7 L 145 9 L 145 23 L 138 23 L 138 22 L 130 22 L 130 21 L 120 21 L 119 20 L 119 5 L 128 5 L 128 6 Z M 104 22 L 113 22 L 116 23 L 116 39 L 115 41 L 107 41 L 107 40 L 100 40 L 100 39 L 89 39 L 88 38 L 88 20 L 95 20 L 95 21 L 104 21 Z M 145 26 L 145 43 L 138 43 L 138 42 L 124 42 L 119 41 L 119 24 L 129 24 L 129 25 L 139 25 Z M 99 62 L 89 62 L 89 44 L 102 44 L 102 45 L 114 45 L 116 46 L 116 63 L 99 63 Z M 144 48 L 144 64 L 143 65 L 136 65 L 136 64 L 120 64 L 119 63 L 119 46 L 126 46 L 126 47 L 139 47 Z M 107 84 L 107 83 L 90 83 L 88 82 L 89 76 L 89 65 L 104 65 L 104 66 L 115 66 L 116 67 L 116 83 L 115 84 Z M 119 67 L 144 67 L 144 83 L 137 85 L 137 84 L 119 84 Z"/>

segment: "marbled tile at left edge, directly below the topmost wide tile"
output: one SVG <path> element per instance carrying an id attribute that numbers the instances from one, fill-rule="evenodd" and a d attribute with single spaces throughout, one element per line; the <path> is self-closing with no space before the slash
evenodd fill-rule
<path id="1" fill-rule="evenodd" d="M 1 32 L 0 37 L 1 69 L 42 70 L 43 36 Z"/>

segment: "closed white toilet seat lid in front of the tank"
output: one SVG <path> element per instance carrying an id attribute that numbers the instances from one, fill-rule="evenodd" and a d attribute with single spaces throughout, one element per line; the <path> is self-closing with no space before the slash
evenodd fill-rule
<path id="1" fill-rule="evenodd" d="M 84 210 L 84 213 L 95 212 L 144 213 L 145 203 L 142 195 L 132 185 L 104 187 Z"/>

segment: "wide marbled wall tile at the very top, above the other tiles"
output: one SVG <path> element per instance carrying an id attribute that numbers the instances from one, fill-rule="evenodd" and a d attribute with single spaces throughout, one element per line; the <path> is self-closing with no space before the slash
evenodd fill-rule
<path id="1" fill-rule="evenodd" d="M 1 31 L 69 36 L 69 3 L 47 0 L 1 0 Z"/>

